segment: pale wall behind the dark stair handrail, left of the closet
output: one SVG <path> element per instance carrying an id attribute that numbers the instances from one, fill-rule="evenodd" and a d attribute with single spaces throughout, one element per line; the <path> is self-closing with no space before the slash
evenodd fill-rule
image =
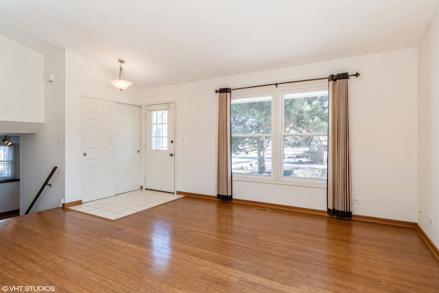
<path id="1" fill-rule="evenodd" d="M 20 214 L 42 187 L 53 167 L 58 167 L 47 186 L 32 208 L 32 213 L 58 207 L 64 198 L 64 51 L 56 51 L 45 56 L 45 72 L 54 73 L 54 82 L 41 82 L 45 87 L 44 124 L 35 134 L 20 137 L 21 178 Z M 58 137 L 61 143 L 58 144 Z"/>

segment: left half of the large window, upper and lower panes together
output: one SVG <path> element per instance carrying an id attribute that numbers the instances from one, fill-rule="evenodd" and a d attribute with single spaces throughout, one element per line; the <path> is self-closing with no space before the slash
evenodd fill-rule
<path id="1" fill-rule="evenodd" d="M 272 174 L 272 95 L 231 102 L 232 171 Z"/>

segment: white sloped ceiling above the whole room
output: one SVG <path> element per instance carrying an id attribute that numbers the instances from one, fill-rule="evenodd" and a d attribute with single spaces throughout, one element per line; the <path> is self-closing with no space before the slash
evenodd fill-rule
<path id="1" fill-rule="evenodd" d="M 0 0 L 0 34 L 161 86 L 416 47 L 438 0 Z M 6 56 L 7 57 L 7 56 Z"/>

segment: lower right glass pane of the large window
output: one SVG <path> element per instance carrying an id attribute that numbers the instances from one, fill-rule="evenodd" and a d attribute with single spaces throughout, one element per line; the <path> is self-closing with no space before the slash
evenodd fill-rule
<path id="1" fill-rule="evenodd" d="M 327 178 L 328 137 L 283 138 L 283 176 Z"/>

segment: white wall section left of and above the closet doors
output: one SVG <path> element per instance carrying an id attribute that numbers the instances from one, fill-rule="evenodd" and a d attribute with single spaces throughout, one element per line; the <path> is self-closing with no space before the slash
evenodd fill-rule
<path id="1" fill-rule="evenodd" d="M 114 74 L 104 71 L 73 51 L 66 51 L 65 92 L 65 202 L 81 200 L 81 95 L 100 97 L 123 103 L 138 103 L 140 89 L 133 84 L 124 91 L 115 89 L 110 80 L 117 78 L 119 65 L 115 56 Z"/>

